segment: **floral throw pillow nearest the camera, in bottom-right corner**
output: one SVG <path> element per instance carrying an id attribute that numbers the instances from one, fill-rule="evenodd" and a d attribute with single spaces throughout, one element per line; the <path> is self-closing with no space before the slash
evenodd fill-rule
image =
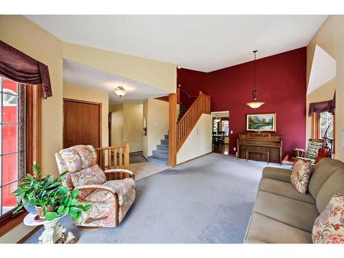
<path id="1" fill-rule="evenodd" d="M 333 195 L 325 211 L 315 219 L 314 244 L 344 244 L 344 195 Z"/>

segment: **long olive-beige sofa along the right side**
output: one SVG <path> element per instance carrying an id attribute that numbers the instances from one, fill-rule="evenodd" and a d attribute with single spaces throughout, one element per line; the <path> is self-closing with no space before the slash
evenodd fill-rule
<path id="1" fill-rule="evenodd" d="M 344 163 L 323 159 L 312 169 L 308 193 L 290 183 L 291 169 L 267 166 L 259 182 L 244 243 L 312 243 L 314 220 L 335 193 L 344 193 Z"/>

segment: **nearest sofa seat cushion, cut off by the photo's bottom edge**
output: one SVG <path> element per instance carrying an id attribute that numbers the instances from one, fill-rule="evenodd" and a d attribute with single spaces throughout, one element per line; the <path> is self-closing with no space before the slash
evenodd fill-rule
<path id="1" fill-rule="evenodd" d="M 312 243 L 312 235 L 309 232 L 294 228 L 259 213 L 252 213 L 250 226 L 244 242 L 250 243 L 249 239 L 271 244 Z"/>

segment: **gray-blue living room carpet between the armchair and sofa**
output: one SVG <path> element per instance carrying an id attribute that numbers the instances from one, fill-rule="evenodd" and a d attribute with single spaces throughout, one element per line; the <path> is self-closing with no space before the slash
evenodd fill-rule
<path id="1" fill-rule="evenodd" d="M 241 243 L 265 162 L 211 153 L 138 180 L 137 197 L 118 228 L 82 231 L 78 243 Z M 26 243 L 36 243 L 42 230 Z"/>

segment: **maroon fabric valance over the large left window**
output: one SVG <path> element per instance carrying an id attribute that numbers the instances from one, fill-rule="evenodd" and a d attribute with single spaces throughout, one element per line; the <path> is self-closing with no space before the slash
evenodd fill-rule
<path id="1" fill-rule="evenodd" d="M 43 85 L 44 98 L 52 96 L 49 69 L 27 54 L 0 41 L 0 75 L 17 83 Z"/>

